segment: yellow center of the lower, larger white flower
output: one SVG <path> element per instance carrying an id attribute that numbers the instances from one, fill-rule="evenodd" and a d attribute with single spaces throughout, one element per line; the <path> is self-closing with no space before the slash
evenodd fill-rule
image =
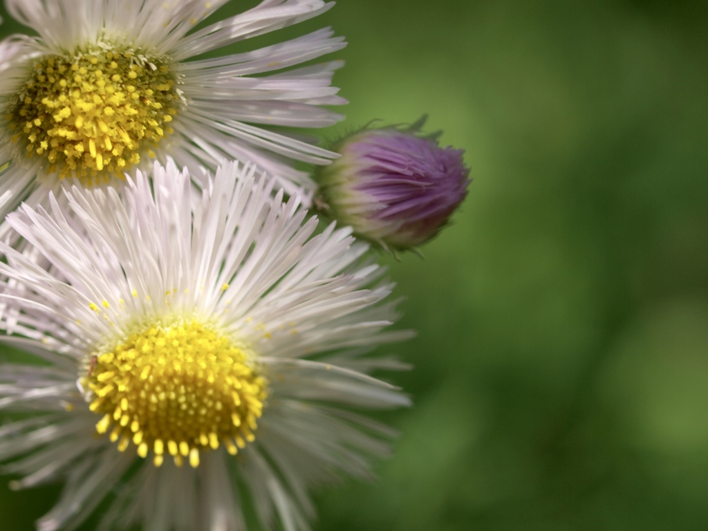
<path id="1" fill-rule="evenodd" d="M 140 457 L 152 450 L 181 466 L 224 445 L 231 454 L 253 441 L 266 397 L 265 379 L 244 351 L 199 321 L 153 324 L 91 357 L 82 379 L 89 408 L 103 414 L 98 433 L 118 450 L 131 442 Z"/>

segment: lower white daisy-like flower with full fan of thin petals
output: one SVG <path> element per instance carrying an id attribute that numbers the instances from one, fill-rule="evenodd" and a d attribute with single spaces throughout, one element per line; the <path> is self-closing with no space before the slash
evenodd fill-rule
<path id="1" fill-rule="evenodd" d="M 386 454 L 389 430 L 355 410 L 408 404 L 365 375 L 408 336 L 387 331 L 392 286 L 349 229 L 314 235 L 254 173 L 227 164 L 199 196 L 156 165 L 8 216 L 52 264 L 0 244 L 1 341 L 42 362 L 0 365 L 0 408 L 22 413 L 0 426 L 3 471 L 66 482 L 39 530 L 106 497 L 101 530 L 307 530 L 312 484 Z"/>

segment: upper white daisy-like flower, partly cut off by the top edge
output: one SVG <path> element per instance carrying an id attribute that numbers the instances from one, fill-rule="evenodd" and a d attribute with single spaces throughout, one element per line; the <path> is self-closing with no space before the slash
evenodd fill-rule
<path id="1" fill-rule="evenodd" d="M 331 86 L 341 62 L 288 68 L 340 50 L 343 39 L 324 29 L 260 50 L 202 55 L 333 3 L 264 0 L 193 30 L 226 2 L 6 0 L 39 36 L 0 45 L 0 218 L 21 200 L 44 200 L 64 178 L 106 183 L 167 154 L 194 169 L 253 162 L 307 202 L 314 183 L 292 161 L 328 164 L 336 154 L 271 126 L 341 119 L 321 108 L 346 103 Z"/>

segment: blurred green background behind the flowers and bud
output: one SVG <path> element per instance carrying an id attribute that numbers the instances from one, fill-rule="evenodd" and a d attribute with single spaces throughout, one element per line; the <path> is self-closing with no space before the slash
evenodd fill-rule
<path id="1" fill-rule="evenodd" d="M 415 405 L 316 531 L 708 529 L 707 6 L 344 0 L 253 43 L 333 25 L 326 136 L 428 113 L 474 178 L 423 260 L 383 258 Z M 2 484 L 2 531 L 57 494 Z"/>

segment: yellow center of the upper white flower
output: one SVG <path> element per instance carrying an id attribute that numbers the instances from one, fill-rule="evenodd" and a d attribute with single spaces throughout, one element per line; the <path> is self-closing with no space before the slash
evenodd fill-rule
<path id="1" fill-rule="evenodd" d="M 101 47 L 43 57 L 7 115 L 12 140 L 60 178 L 93 185 L 122 177 L 173 132 L 180 98 L 170 65 Z"/>

